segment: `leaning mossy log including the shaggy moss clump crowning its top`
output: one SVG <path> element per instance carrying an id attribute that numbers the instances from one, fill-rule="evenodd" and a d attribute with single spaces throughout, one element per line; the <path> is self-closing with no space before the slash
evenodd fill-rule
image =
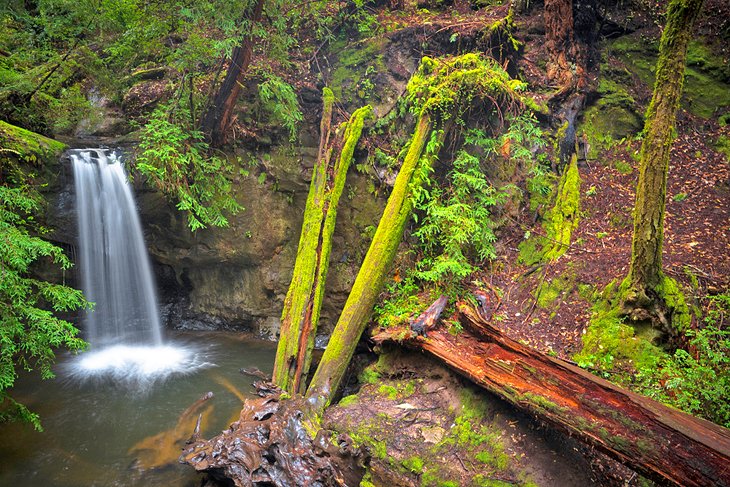
<path id="1" fill-rule="evenodd" d="M 500 104 L 522 107 L 526 100 L 516 91 L 524 87 L 494 60 L 477 54 L 423 58 L 407 89 L 407 100 L 418 117 L 408 152 L 308 393 L 336 393 L 403 237 L 413 209 L 411 194 L 422 185 L 443 144 L 444 127 L 463 122 L 467 111 L 499 109 Z"/>

